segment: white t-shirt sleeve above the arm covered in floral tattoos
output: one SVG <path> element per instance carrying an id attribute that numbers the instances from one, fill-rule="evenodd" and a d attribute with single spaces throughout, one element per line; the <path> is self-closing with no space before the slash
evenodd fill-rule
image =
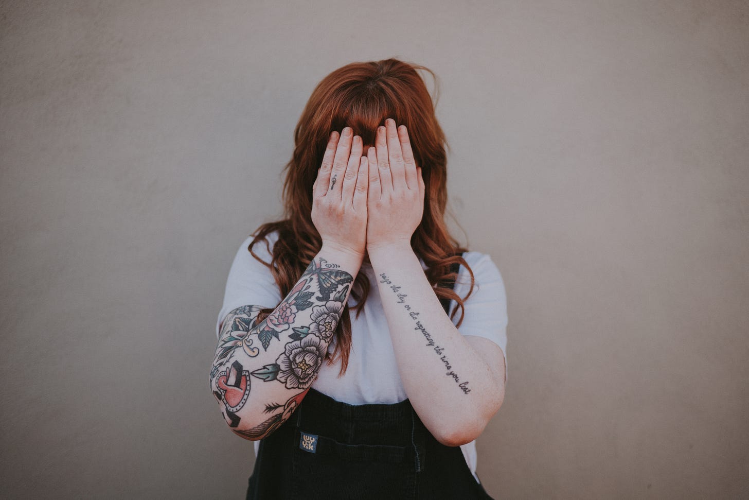
<path id="1" fill-rule="evenodd" d="M 276 238 L 276 232 L 268 235 L 271 250 Z M 252 253 L 249 253 L 247 247 L 249 247 L 252 239 L 252 236 L 250 236 L 243 241 L 239 250 L 237 250 L 237 255 L 234 256 L 234 262 L 231 263 L 224 290 L 223 305 L 218 318 L 216 318 L 216 339 L 221 334 L 222 320 L 231 310 L 247 305 L 276 307 L 282 299 L 270 268 L 258 262 L 258 259 L 255 259 Z M 270 263 L 271 254 L 264 241 L 258 241 L 252 247 L 252 251 L 265 262 Z"/>

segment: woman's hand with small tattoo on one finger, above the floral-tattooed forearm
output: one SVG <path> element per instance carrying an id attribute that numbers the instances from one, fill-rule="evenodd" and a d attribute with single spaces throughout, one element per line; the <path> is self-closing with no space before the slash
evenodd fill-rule
<path id="1" fill-rule="evenodd" d="M 367 233 L 369 164 L 351 127 L 330 134 L 312 186 L 312 223 L 323 247 L 363 259 Z M 340 140 L 339 140 L 340 139 Z"/>

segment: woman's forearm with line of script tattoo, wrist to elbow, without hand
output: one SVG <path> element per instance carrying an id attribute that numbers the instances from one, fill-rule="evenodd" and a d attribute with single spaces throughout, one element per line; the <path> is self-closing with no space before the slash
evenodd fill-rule
<path id="1" fill-rule="evenodd" d="M 369 250 L 406 394 L 445 443 L 478 436 L 501 404 L 488 364 L 458 332 L 410 246 Z"/>

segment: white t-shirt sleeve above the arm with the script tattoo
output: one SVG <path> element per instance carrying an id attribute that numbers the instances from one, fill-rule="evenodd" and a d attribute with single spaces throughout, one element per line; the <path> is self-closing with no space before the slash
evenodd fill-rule
<path id="1" fill-rule="evenodd" d="M 464 318 L 458 331 L 462 335 L 476 335 L 489 339 L 500 346 L 505 355 L 505 380 L 507 380 L 507 296 L 505 283 L 497 265 L 485 253 L 466 252 L 463 255 L 473 271 L 473 292 L 464 301 Z M 470 289 L 470 274 L 463 265 L 458 271 L 455 293 L 465 297 Z M 450 311 L 456 302 L 450 301 Z M 460 311 L 452 322 L 457 325 Z"/>

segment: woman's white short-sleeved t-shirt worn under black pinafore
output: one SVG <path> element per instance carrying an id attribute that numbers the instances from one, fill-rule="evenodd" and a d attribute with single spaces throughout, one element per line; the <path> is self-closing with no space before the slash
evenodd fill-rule
<path id="1" fill-rule="evenodd" d="M 276 232 L 268 236 L 270 248 L 273 249 L 278 235 Z M 247 246 L 252 237 L 246 238 L 240 245 L 226 281 L 223 307 L 216 320 L 216 338 L 218 338 L 224 317 L 237 307 L 256 305 L 261 307 L 276 307 L 282 300 L 281 293 L 270 269 L 255 260 Z M 270 262 L 270 253 L 266 250 L 265 242 L 258 241 L 252 250 L 265 262 Z M 458 328 L 462 335 L 476 335 L 485 337 L 497 343 L 506 353 L 507 346 L 507 299 L 502 275 L 491 257 L 485 253 L 466 252 L 463 255 L 473 271 L 475 288 L 473 293 L 464 301 L 465 316 Z M 422 268 L 427 266 L 422 259 Z M 351 314 L 351 355 L 348 368 L 344 376 L 338 378 L 340 364 L 333 366 L 322 364 L 318 378 L 312 382 L 312 388 L 320 391 L 336 401 L 351 405 L 367 403 L 398 403 L 407 399 L 406 392 L 398 374 L 395 362 L 395 352 L 388 333 L 388 325 L 383 313 L 380 294 L 377 291 L 377 281 L 372 265 L 365 263 L 359 271 L 369 276 L 372 287 L 369 297 L 364 304 L 364 310 L 356 317 Z M 461 265 L 458 280 L 455 282 L 455 292 L 463 298 L 470 288 L 470 275 Z M 349 306 L 355 306 L 354 297 L 348 298 Z M 455 301 L 450 301 L 450 312 L 455 308 Z M 455 314 L 453 324 L 458 323 L 461 313 Z M 335 337 L 330 343 L 329 351 L 333 352 Z M 390 373 L 392 376 L 383 376 Z M 505 355 L 505 379 L 507 379 L 507 358 Z M 258 454 L 259 441 L 255 441 L 255 456 Z M 466 459 L 476 481 L 476 440 L 461 445 L 461 451 Z"/>

